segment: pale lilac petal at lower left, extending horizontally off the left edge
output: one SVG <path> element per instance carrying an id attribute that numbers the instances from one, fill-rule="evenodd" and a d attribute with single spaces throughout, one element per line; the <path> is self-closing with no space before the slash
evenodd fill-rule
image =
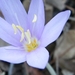
<path id="1" fill-rule="evenodd" d="M 7 46 L 0 48 L 0 60 L 10 63 L 22 63 L 26 60 L 26 53 L 21 48 Z"/>

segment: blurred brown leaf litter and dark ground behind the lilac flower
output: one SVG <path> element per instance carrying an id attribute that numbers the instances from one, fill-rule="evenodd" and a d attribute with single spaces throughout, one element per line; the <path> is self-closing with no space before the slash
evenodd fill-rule
<path id="1" fill-rule="evenodd" d="M 31 0 L 21 0 L 28 11 Z M 44 0 L 46 23 L 57 13 L 71 10 L 71 16 L 60 37 L 46 48 L 50 53 L 49 63 L 57 75 L 75 75 L 75 0 Z M 3 17 L 0 12 L 0 16 Z M 8 45 L 0 39 L 0 46 Z M 0 61 L 0 75 L 8 75 L 10 63 Z M 33 68 L 26 63 L 13 66 L 12 75 L 50 75 L 48 70 Z"/>

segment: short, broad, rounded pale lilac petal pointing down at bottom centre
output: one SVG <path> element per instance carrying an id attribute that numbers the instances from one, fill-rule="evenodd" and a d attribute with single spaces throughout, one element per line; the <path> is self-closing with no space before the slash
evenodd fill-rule
<path id="1" fill-rule="evenodd" d="M 48 51 L 40 47 L 33 52 L 27 54 L 27 63 L 36 68 L 44 69 L 48 63 L 49 53 Z"/>

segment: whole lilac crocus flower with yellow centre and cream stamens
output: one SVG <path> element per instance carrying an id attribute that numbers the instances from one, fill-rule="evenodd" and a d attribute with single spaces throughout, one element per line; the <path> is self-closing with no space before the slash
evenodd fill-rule
<path id="1" fill-rule="evenodd" d="M 31 0 L 28 14 L 20 0 L 0 0 L 0 38 L 10 46 L 0 47 L 0 60 L 43 69 L 48 63 L 46 46 L 60 35 L 70 11 L 57 14 L 45 25 L 42 0 Z M 44 26 L 45 25 L 45 26 Z"/>

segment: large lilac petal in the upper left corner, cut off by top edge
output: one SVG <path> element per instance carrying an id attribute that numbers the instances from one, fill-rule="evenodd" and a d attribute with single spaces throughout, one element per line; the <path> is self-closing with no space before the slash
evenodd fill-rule
<path id="1" fill-rule="evenodd" d="M 27 29 L 27 13 L 20 0 L 0 0 L 0 9 L 10 24 L 21 25 Z"/>

